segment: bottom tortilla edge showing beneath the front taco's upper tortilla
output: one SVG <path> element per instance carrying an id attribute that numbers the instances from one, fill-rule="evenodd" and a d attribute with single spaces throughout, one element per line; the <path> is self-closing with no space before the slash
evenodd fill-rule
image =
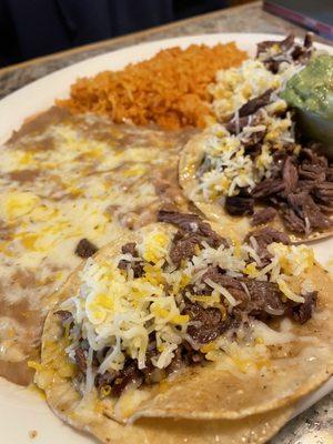
<path id="1" fill-rule="evenodd" d="M 289 406 L 235 421 L 142 418 L 123 425 L 108 416 L 100 401 L 82 401 L 68 380 L 61 379 L 49 387 L 47 397 L 50 407 L 62 421 L 105 444 L 261 444 L 275 435 L 294 411 L 293 406 Z"/>

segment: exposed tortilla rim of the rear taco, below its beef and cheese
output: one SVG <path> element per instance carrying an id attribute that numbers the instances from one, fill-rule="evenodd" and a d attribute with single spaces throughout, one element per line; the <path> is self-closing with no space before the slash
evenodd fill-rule
<path id="1" fill-rule="evenodd" d="M 193 193 L 198 189 L 196 171 L 201 165 L 204 155 L 205 135 L 203 133 L 194 135 L 182 151 L 179 162 L 179 182 L 184 191 L 184 194 L 210 221 L 220 223 L 225 230 L 225 235 L 238 236 L 243 239 L 251 230 L 250 216 L 232 216 L 226 213 L 224 208 L 219 202 L 208 202 L 201 194 Z M 256 209 L 262 206 L 256 205 Z M 286 232 L 291 241 L 295 244 L 311 242 L 319 239 L 331 238 L 333 228 L 326 231 L 314 231 L 309 235 L 293 234 L 289 232 L 278 212 L 278 218 L 270 223 L 276 230 Z"/>

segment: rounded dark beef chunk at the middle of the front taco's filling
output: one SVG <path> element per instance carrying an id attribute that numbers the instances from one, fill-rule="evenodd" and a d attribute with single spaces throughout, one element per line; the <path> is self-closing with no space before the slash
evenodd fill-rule
<path id="1" fill-rule="evenodd" d="M 212 306 L 204 309 L 198 303 L 186 302 L 183 314 L 188 314 L 191 321 L 195 322 L 189 325 L 188 334 L 199 344 L 214 341 L 231 325 L 230 319 L 224 321 L 221 311 Z"/>

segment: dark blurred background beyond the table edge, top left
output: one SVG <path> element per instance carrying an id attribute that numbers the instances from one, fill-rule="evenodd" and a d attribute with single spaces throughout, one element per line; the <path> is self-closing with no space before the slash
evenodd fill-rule
<path id="1" fill-rule="evenodd" d="M 0 0 L 0 67 L 243 2 Z"/>

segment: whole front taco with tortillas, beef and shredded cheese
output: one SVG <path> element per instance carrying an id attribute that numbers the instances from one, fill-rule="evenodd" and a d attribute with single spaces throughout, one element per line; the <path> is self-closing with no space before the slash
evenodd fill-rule
<path id="1" fill-rule="evenodd" d="M 332 374 L 327 273 L 270 228 L 241 244 L 194 214 L 159 219 L 71 275 L 44 324 L 37 384 L 98 436 L 103 423 L 153 426 L 144 417 L 223 420 L 216 435 L 228 421 L 260 430 L 262 414 L 283 423 Z"/>

